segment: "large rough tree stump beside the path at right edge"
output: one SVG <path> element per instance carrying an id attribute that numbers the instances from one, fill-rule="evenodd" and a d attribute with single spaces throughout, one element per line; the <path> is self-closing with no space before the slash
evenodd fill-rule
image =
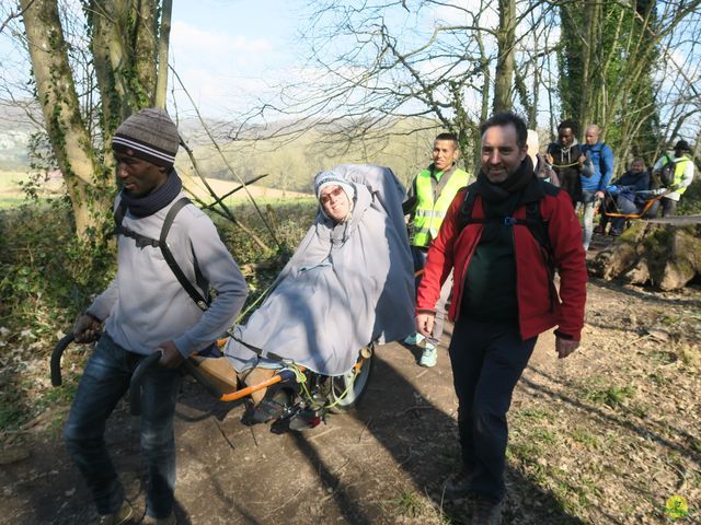
<path id="1" fill-rule="evenodd" d="M 639 222 L 589 262 L 607 281 L 650 283 L 658 290 L 683 288 L 701 275 L 701 215 Z"/>

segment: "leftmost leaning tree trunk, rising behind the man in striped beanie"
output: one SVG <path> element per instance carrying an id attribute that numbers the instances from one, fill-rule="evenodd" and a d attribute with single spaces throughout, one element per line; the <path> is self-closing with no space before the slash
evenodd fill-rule
<path id="1" fill-rule="evenodd" d="M 84 237 L 108 209 L 106 192 L 94 191 L 100 186 L 102 166 L 95 162 L 90 136 L 80 116 L 56 2 L 22 0 L 22 8 L 46 129 L 66 180 L 77 233 Z"/>

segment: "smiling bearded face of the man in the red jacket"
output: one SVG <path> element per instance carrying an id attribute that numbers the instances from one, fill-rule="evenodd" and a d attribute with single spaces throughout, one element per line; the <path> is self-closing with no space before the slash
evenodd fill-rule
<path id="1" fill-rule="evenodd" d="M 493 184 L 503 183 L 516 173 L 527 153 L 526 144 L 518 145 L 513 124 L 492 126 L 482 136 L 482 170 Z"/>

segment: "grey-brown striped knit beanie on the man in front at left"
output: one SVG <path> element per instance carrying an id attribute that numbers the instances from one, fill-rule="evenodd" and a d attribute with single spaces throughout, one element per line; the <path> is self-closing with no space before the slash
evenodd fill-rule
<path id="1" fill-rule="evenodd" d="M 112 149 L 157 166 L 171 167 L 180 144 L 177 128 L 163 109 L 149 107 L 128 117 L 117 128 Z"/>

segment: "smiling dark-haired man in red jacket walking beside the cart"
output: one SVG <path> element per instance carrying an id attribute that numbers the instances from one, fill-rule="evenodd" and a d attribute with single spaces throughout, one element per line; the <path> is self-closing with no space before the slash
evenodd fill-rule
<path id="1" fill-rule="evenodd" d="M 558 327 L 560 358 L 579 346 L 587 271 L 572 199 L 536 178 L 524 120 L 497 114 L 481 132 L 478 180 L 456 196 L 428 249 L 416 326 L 430 335 L 440 285 L 453 269 L 449 354 L 462 466 L 445 490 L 450 499 L 472 497 L 472 523 L 495 524 L 505 493 L 506 412 L 514 387 L 539 334 Z M 545 238 L 537 238 L 533 213 Z"/>

